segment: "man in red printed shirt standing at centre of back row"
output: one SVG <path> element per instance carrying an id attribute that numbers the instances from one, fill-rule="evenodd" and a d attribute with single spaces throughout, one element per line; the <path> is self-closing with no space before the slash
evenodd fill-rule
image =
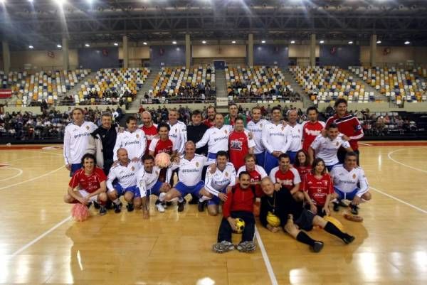
<path id="1" fill-rule="evenodd" d="M 246 154 L 253 154 L 255 141 L 249 139 L 249 133 L 243 127 L 243 119 L 236 118 L 234 121 L 234 131 L 228 137 L 228 151 L 230 162 L 233 163 L 236 171 L 245 164 L 244 157 Z"/>

